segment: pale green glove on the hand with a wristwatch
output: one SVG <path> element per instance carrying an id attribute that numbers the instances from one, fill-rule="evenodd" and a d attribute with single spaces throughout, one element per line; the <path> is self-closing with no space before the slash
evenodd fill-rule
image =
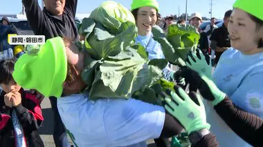
<path id="1" fill-rule="evenodd" d="M 178 86 L 175 86 L 175 91 L 176 93 L 170 92 L 172 99 L 165 98 L 165 110 L 181 122 L 188 134 L 204 128 L 209 129 L 210 124 L 206 122 L 206 110 L 201 97 L 194 92 L 188 95 Z"/>

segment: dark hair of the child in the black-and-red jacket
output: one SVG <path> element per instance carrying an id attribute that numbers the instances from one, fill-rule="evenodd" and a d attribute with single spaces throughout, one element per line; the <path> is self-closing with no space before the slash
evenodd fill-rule
<path id="1" fill-rule="evenodd" d="M 15 59 L 3 59 L 0 61 L 0 84 L 8 84 L 12 79 L 15 67 Z"/>

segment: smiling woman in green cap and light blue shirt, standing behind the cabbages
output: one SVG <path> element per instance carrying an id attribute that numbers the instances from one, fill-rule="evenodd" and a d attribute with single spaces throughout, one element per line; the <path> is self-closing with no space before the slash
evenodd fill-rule
<path id="1" fill-rule="evenodd" d="M 158 12 L 159 5 L 156 0 L 133 0 L 131 3 L 131 13 L 134 14 L 138 27 L 136 43 L 146 48 L 149 59 L 165 58 L 160 43 L 152 38 L 152 27 L 156 25 L 160 17 Z M 168 81 L 173 80 L 173 73 L 169 66 L 163 69 L 163 75 Z"/>

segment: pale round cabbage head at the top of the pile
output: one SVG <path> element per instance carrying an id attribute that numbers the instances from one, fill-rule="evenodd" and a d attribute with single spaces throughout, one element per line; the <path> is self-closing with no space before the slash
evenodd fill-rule
<path id="1" fill-rule="evenodd" d="M 133 14 L 115 1 L 105 1 L 91 12 L 89 18 L 101 23 L 113 34 L 119 30 L 122 23 L 129 21 L 135 24 Z"/>

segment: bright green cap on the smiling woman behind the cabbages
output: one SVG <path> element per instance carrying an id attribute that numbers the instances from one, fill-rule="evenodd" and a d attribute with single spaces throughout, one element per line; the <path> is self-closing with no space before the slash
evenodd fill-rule
<path id="1" fill-rule="evenodd" d="M 131 3 L 131 11 L 141 7 L 153 7 L 160 12 L 159 4 L 156 0 L 133 0 Z"/>

